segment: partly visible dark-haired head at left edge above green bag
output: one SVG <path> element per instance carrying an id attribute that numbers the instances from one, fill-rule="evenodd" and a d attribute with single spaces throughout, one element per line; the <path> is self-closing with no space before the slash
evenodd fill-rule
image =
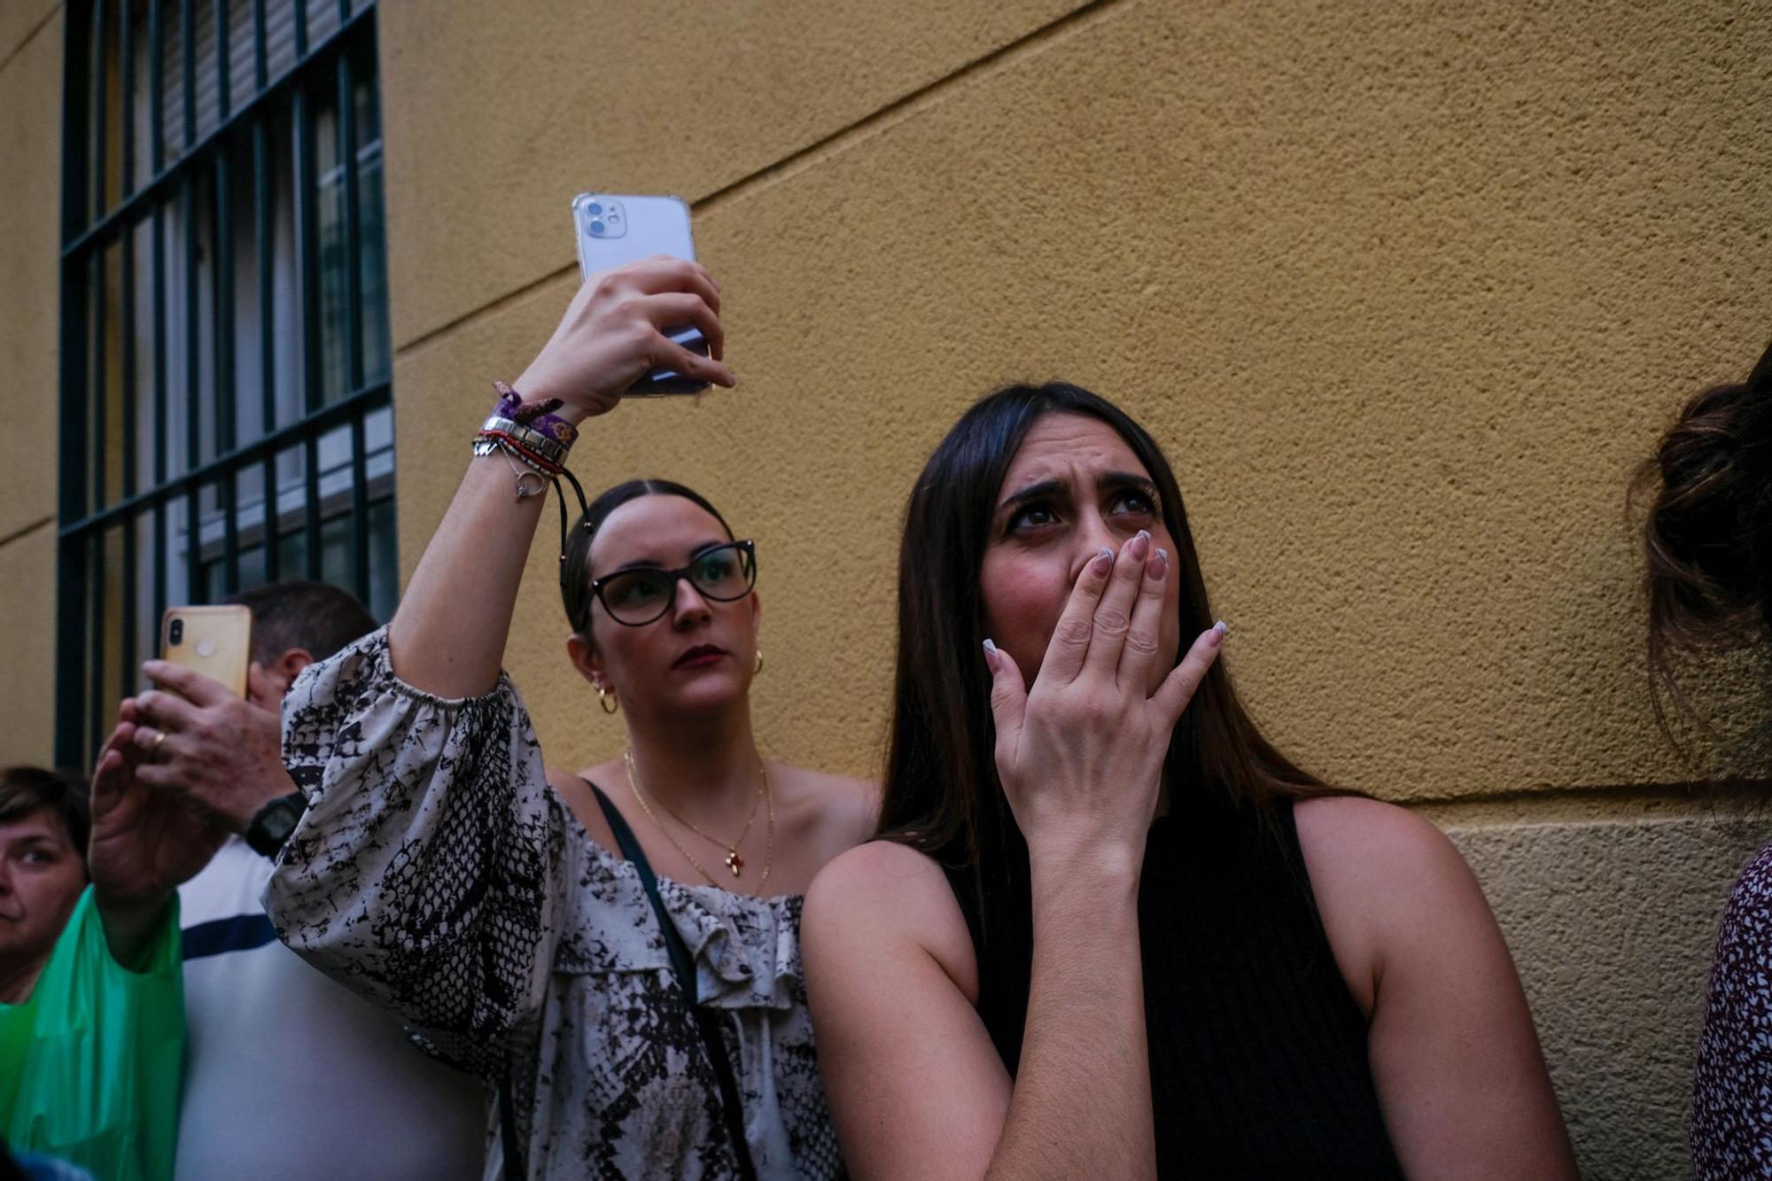
<path id="1" fill-rule="evenodd" d="M 87 885 L 87 789 L 34 766 L 0 770 L 0 979 L 48 958 Z"/>

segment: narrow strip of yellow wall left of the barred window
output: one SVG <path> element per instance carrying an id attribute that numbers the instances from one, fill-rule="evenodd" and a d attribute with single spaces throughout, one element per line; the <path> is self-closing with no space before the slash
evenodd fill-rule
<path id="1" fill-rule="evenodd" d="M 62 20 L 0 0 L 0 766 L 55 755 L 55 388 Z"/>

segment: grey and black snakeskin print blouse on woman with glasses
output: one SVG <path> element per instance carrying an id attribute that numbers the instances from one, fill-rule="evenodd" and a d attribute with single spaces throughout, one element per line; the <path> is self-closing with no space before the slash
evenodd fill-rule
<path id="1" fill-rule="evenodd" d="M 445 700 L 377 631 L 284 702 L 308 810 L 266 906 L 289 947 L 507 1085 L 532 1177 L 735 1174 L 719 1091 L 634 867 L 549 791 L 509 677 Z M 799 963 L 799 897 L 659 880 L 739 1075 L 760 1177 L 835 1177 Z M 489 1105 L 487 1176 L 500 1172 Z"/>

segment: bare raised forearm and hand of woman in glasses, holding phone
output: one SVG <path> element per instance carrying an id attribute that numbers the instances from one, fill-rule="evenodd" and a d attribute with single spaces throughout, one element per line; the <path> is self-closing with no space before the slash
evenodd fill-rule
<path id="1" fill-rule="evenodd" d="M 711 356 L 664 335 L 695 325 Z M 649 369 L 666 367 L 730 387 L 721 362 L 719 289 L 696 262 L 647 259 L 592 277 L 553 339 L 517 378 L 523 401 L 560 399 L 571 424 L 601 415 Z M 478 422 L 461 424 L 462 452 Z M 498 681 L 523 566 L 546 497 L 516 495 L 505 456 L 482 456 L 450 502 L 388 628 L 400 677 L 438 697 L 477 697 Z"/>

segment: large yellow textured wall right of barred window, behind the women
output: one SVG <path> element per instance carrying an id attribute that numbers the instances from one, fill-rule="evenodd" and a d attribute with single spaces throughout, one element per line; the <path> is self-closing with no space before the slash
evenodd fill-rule
<path id="1" fill-rule="evenodd" d="M 895 541 L 1015 378 L 1170 449 L 1230 661 L 1318 773 L 1449 825 L 1591 1176 L 1666 1177 L 1722 896 L 1763 826 L 1678 784 L 1623 489 L 1772 335 L 1772 9 L 1749 4 L 503 5 L 385 0 L 402 562 L 576 278 L 581 188 L 677 192 L 735 394 L 626 406 L 760 544 L 758 723 L 872 773 Z M 510 667 L 611 754 L 553 541 Z"/>

